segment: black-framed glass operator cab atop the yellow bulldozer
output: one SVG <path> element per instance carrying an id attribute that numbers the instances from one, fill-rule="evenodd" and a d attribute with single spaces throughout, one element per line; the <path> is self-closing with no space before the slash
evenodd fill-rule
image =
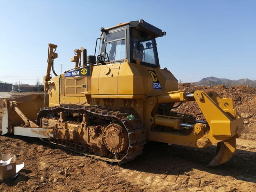
<path id="1" fill-rule="evenodd" d="M 97 63 L 123 62 L 138 63 L 147 67 L 159 67 L 156 37 L 166 32 L 144 20 L 130 21 L 111 28 L 101 28 Z M 97 39 L 98 40 L 98 39 Z M 97 46 L 97 42 L 96 42 Z M 95 47 L 95 54 L 96 54 Z"/>

